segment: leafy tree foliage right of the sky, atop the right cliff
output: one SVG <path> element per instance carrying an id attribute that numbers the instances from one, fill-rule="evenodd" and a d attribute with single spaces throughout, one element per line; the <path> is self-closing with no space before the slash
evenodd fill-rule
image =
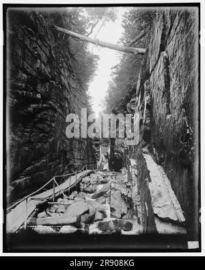
<path id="1" fill-rule="evenodd" d="M 131 40 L 143 30 L 152 26 L 155 10 L 142 8 L 129 8 L 122 21 L 124 35 L 121 42 L 128 45 Z M 148 47 L 150 33 L 148 32 L 133 47 Z M 135 94 L 137 78 L 143 56 L 124 53 L 120 64 L 113 67 L 111 82 L 105 97 L 105 110 L 107 112 L 126 112 L 126 103 Z"/>

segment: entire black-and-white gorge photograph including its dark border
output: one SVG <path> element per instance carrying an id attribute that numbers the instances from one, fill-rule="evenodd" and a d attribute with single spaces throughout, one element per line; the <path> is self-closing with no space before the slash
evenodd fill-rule
<path id="1" fill-rule="evenodd" d="M 200 252 L 200 33 L 199 1 L 3 3 L 4 252 Z"/>

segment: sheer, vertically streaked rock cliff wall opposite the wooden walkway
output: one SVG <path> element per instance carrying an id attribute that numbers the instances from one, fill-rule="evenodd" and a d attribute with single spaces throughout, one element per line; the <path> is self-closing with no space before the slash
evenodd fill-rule
<path id="1" fill-rule="evenodd" d="M 197 23 L 194 8 L 156 13 L 137 81 L 136 104 L 134 109 L 129 103 L 127 106 L 139 114 L 140 142 L 128 147 L 128 156 L 136 162 L 133 197 L 138 195 L 135 203 L 141 208 L 144 231 L 152 228 L 153 232 L 154 221 L 155 227 L 164 230 L 164 225 L 159 225 L 163 220 L 171 227 L 183 223 L 193 238 L 199 220 Z M 155 182 L 158 172 L 161 176 Z M 180 214 L 175 199 L 166 195 L 169 188 L 159 184 L 167 182 L 166 177 L 182 208 Z M 176 217 L 170 217 L 171 204 Z M 167 232 L 172 231 L 170 226 Z"/>

